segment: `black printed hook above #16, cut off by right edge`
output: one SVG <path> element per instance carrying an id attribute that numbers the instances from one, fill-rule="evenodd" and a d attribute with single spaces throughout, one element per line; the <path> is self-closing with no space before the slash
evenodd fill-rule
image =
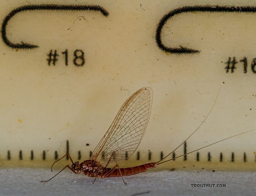
<path id="1" fill-rule="evenodd" d="M 177 54 L 191 54 L 191 53 L 199 53 L 200 50 L 195 50 L 191 48 L 186 48 L 182 47 L 167 47 L 166 45 L 163 44 L 162 42 L 162 29 L 164 24 L 173 16 L 181 13 L 188 13 L 188 12 L 238 12 L 238 13 L 255 13 L 256 12 L 256 7 L 252 6 L 243 6 L 243 7 L 235 7 L 235 6 L 200 6 L 200 5 L 195 5 L 195 6 L 185 6 L 182 8 L 177 8 L 173 9 L 169 13 L 165 14 L 163 18 L 159 21 L 157 25 L 157 30 L 156 30 L 156 42 L 157 46 L 168 53 L 177 53 Z"/>

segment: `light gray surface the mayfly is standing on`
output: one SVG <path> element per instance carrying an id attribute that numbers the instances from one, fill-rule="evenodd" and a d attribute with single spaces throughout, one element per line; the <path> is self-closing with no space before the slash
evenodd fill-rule
<path id="1" fill-rule="evenodd" d="M 150 191 L 149 195 L 255 195 L 256 172 L 147 171 L 127 176 L 96 179 L 68 170 L 47 183 L 57 170 L 18 168 L 0 169 L 0 195 L 121 195 Z M 191 188 L 191 180 L 227 181 L 226 188 Z"/>

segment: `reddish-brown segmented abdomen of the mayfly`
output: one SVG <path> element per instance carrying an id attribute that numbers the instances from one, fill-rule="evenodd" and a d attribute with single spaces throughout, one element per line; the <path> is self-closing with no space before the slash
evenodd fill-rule
<path id="1" fill-rule="evenodd" d="M 130 176 L 141 172 L 146 172 L 150 168 L 157 167 L 157 163 L 146 163 L 143 165 L 135 166 L 135 167 L 127 167 L 127 168 L 120 168 L 120 171 L 118 168 L 115 168 L 114 170 L 111 170 L 111 168 L 106 168 L 107 174 L 105 177 L 118 177 L 118 176 Z M 121 174 L 120 174 L 121 172 Z"/>

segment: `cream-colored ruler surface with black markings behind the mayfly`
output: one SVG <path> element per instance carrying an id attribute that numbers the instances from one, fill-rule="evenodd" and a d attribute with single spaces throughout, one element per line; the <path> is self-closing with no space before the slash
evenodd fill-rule
<path id="1" fill-rule="evenodd" d="M 220 88 L 208 119 L 175 155 L 256 128 L 256 11 L 244 11 L 256 6 L 255 1 L 0 4 L 1 21 L 13 9 L 34 8 L 9 18 L 4 31 L 9 42 L 4 38 L 0 43 L 2 166 L 48 166 L 67 151 L 73 160 L 89 159 L 121 105 L 142 87 L 153 90 L 151 117 L 140 146 L 125 165 L 155 162 L 176 148 L 204 120 Z M 33 7 L 41 4 L 103 9 Z M 196 10 L 204 5 L 225 12 Z M 184 8 L 167 19 L 161 42 L 199 52 L 164 51 L 157 45 L 157 27 L 166 14 L 184 6 L 192 11 Z M 162 166 L 253 169 L 255 136 L 256 131 L 237 136 Z"/>

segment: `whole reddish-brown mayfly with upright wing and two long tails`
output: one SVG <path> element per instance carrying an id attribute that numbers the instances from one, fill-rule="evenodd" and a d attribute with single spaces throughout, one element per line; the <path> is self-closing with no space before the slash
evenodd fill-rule
<path id="1" fill-rule="evenodd" d="M 199 127 L 205 122 L 205 120 L 211 113 L 211 110 L 213 109 L 213 106 L 216 103 L 215 100 L 210 112 L 205 117 L 203 122 L 197 127 L 197 129 L 186 140 L 184 140 L 184 142 L 182 142 L 177 148 L 175 148 L 163 159 L 161 159 L 158 162 L 146 163 L 135 167 L 120 168 L 118 162 L 129 158 L 136 151 L 139 144 L 141 143 L 141 139 L 145 133 L 149 121 L 152 107 L 152 99 L 153 91 L 150 87 L 141 88 L 135 93 L 133 93 L 120 108 L 113 123 L 111 124 L 111 126 L 109 127 L 109 129 L 107 130 L 107 132 L 105 133 L 105 135 L 93 151 L 91 159 L 83 161 L 81 163 L 79 163 L 78 161 L 73 162 L 71 156 L 69 155 L 69 153 L 67 153 L 59 160 L 61 160 L 65 156 L 68 156 L 70 161 L 72 162 L 72 165 L 65 166 L 60 172 L 62 172 L 67 167 L 75 174 L 80 174 L 83 172 L 85 175 L 88 175 L 89 177 L 95 177 L 94 181 L 97 177 L 122 177 L 122 180 L 124 182 L 123 176 L 130 176 L 141 172 L 146 172 L 150 168 L 155 168 L 157 167 L 157 165 L 173 160 L 169 159 L 164 161 L 170 154 L 172 154 L 186 140 L 188 140 L 191 137 L 191 135 L 193 135 L 196 132 L 196 130 L 199 129 Z M 247 132 L 249 131 L 237 135 L 241 135 Z M 235 137 L 237 135 L 233 135 L 231 137 Z M 225 138 L 223 140 L 227 140 L 231 137 Z M 214 142 L 207 146 L 211 146 L 223 140 Z M 207 146 L 201 147 L 197 150 L 188 152 L 186 154 L 198 151 Z M 175 158 L 184 156 L 186 154 L 177 156 Z M 57 160 L 56 162 L 58 162 L 59 160 Z M 56 162 L 52 164 L 51 171 L 53 165 Z M 60 172 L 58 172 L 56 175 L 58 175 Z M 52 178 L 54 178 L 55 176 L 53 176 Z M 52 178 L 50 178 L 49 180 L 51 180 Z"/>

